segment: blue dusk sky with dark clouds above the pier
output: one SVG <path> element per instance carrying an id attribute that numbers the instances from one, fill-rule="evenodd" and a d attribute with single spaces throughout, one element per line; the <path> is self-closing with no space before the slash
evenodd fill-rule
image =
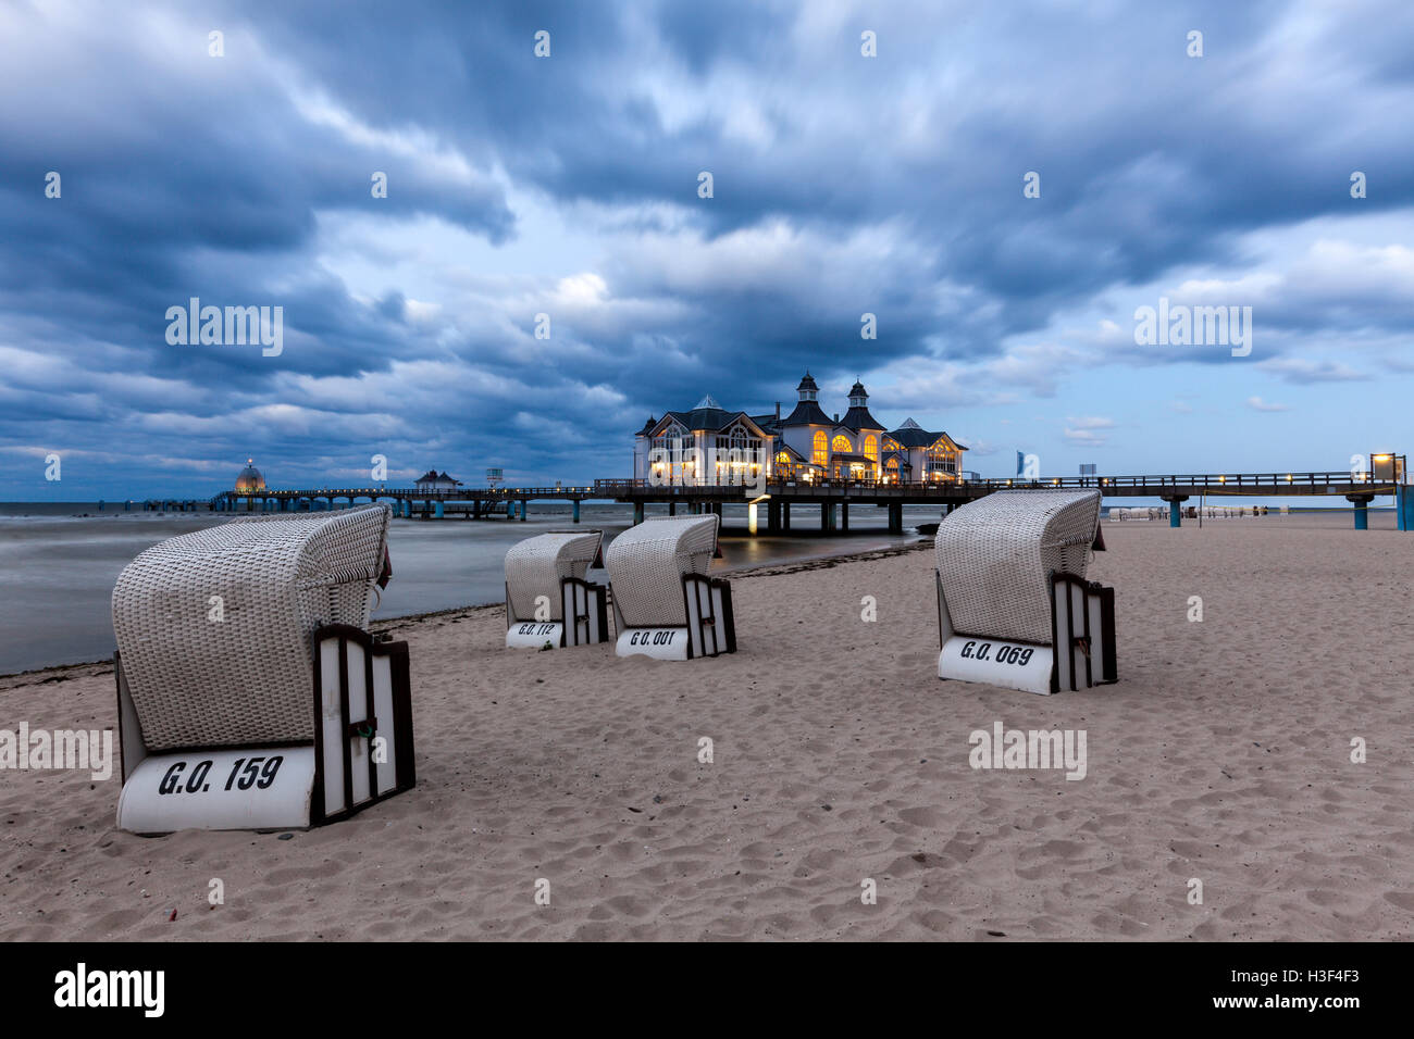
<path id="1" fill-rule="evenodd" d="M 6 0 L 0 86 L 7 500 L 628 476 L 806 369 L 983 475 L 1414 452 L 1407 0 Z"/>

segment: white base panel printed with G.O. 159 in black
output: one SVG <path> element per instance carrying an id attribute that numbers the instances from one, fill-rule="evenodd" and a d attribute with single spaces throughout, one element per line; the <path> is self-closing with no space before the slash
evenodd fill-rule
<path id="1" fill-rule="evenodd" d="M 123 785 L 117 826 L 134 834 L 304 828 L 312 792 L 310 745 L 157 753 Z"/>

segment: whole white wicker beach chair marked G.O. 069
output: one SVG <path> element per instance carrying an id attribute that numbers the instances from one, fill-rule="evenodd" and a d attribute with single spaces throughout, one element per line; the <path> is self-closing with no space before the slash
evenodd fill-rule
<path id="1" fill-rule="evenodd" d="M 1058 693 L 1114 681 L 1114 589 L 1086 581 L 1099 491 L 998 491 L 937 526 L 942 679 Z"/>

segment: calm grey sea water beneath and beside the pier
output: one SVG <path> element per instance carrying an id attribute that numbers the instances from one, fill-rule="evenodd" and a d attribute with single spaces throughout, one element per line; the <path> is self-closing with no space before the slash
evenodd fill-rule
<path id="1" fill-rule="evenodd" d="M 650 515 L 652 510 L 650 510 Z M 790 510 L 793 536 L 751 537 L 745 506 L 728 506 L 717 565 L 788 560 L 906 544 L 913 526 L 933 523 L 937 506 L 904 509 L 905 534 L 888 533 L 888 510 L 855 505 L 850 533 L 822 537 L 819 509 Z M 86 502 L 0 502 L 0 674 L 99 660 L 113 653 L 110 597 L 119 571 L 168 537 L 225 522 L 219 513 L 99 512 Z M 585 505 L 580 529 L 604 530 L 605 544 L 631 524 L 625 505 Z M 765 527 L 765 509 L 761 510 Z M 393 520 L 393 581 L 373 612 L 407 616 L 505 599 L 506 550 L 523 537 L 570 527 L 567 506 L 532 503 L 529 519 Z"/>

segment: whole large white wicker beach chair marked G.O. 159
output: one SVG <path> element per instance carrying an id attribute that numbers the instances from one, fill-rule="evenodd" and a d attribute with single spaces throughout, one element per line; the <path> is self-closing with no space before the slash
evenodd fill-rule
<path id="1" fill-rule="evenodd" d="M 113 588 L 119 827 L 308 827 L 413 786 L 407 643 L 368 633 L 383 505 L 238 517 Z"/>

